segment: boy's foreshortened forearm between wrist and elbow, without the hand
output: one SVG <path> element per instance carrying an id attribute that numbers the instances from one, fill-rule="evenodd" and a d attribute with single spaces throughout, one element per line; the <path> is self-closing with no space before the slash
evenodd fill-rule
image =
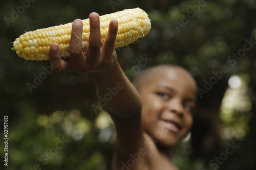
<path id="1" fill-rule="evenodd" d="M 129 117 L 140 113 L 141 99 L 139 92 L 125 76 L 122 68 L 116 66 L 106 72 L 93 72 L 99 100 L 104 100 L 105 111 L 112 115 Z M 102 104 L 101 104 L 102 105 Z"/>

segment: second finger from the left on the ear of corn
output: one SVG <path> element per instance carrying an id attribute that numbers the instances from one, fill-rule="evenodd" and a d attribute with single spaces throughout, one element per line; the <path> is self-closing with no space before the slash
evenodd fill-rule
<path id="1" fill-rule="evenodd" d="M 73 61 L 80 62 L 83 57 L 82 51 L 82 20 L 76 19 L 72 24 L 72 32 L 69 44 L 70 57 L 75 58 Z"/>

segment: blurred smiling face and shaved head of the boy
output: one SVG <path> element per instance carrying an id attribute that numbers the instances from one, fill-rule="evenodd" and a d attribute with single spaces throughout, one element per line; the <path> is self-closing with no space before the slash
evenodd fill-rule
<path id="1" fill-rule="evenodd" d="M 181 68 L 158 68 L 141 87 L 145 132 L 161 147 L 173 147 L 193 124 L 196 83 Z"/>

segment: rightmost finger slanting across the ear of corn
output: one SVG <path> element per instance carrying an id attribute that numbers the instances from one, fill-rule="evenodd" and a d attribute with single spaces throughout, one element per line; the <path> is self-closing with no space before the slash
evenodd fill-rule
<path id="1" fill-rule="evenodd" d="M 116 34 L 118 21 L 116 19 L 112 19 L 109 25 L 109 31 L 106 35 L 106 39 L 102 46 L 102 60 L 108 60 L 113 55 L 113 50 L 116 42 Z"/>

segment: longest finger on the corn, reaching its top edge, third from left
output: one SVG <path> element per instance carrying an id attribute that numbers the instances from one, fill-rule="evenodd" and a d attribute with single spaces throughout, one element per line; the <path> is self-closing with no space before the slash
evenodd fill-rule
<path id="1" fill-rule="evenodd" d="M 99 60 L 101 35 L 100 35 L 100 23 L 99 14 L 93 12 L 89 16 L 90 18 L 90 37 L 89 45 L 87 48 L 86 56 L 89 63 L 95 63 Z"/>

